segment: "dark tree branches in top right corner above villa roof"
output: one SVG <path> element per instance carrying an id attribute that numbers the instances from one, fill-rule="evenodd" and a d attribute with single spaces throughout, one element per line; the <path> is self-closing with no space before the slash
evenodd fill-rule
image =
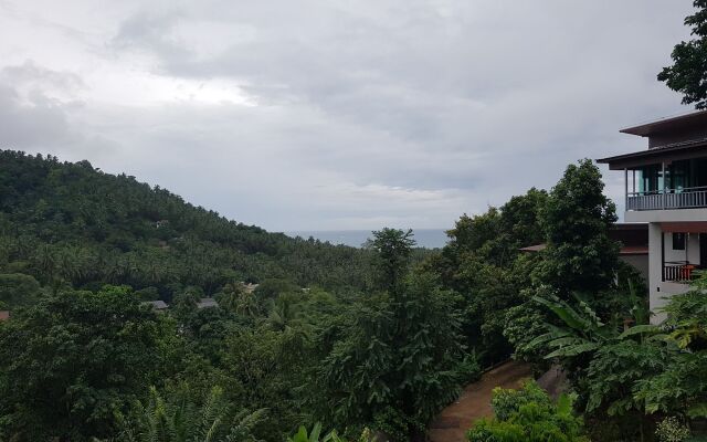
<path id="1" fill-rule="evenodd" d="M 683 94 L 683 104 L 707 108 L 707 0 L 695 0 L 698 9 L 685 19 L 695 39 L 680 42 L 673 49 L 673 65 L 664 67 L 658 80 Z"/>

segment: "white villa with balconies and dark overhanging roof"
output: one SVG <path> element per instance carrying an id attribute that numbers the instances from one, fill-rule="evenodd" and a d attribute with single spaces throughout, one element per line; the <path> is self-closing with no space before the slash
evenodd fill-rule
<path id="1" fill-rule="evenodd" d="M 648 148 L 598 162 L 623 170 L 630 223 L 648 225 L 648 291 L 654 323 L 665 298 L 707 267 L 707 110 L 621 130 Z"/>

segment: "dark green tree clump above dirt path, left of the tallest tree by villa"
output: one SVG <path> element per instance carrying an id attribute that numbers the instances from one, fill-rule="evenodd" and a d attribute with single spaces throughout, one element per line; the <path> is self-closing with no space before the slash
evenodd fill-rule
<path id="1" fill-rule="evenodd" d="M 544 242 L 539 213 L 546 200 L 545 191 L 531 189 L 499 209 L 463 215 L 447 232 L 450 243 L 442 255 L 430 260 L 443 286 L 458 294 L 466 344 L 478 350 L 484 365 L 513 351 L 504 336 L 506 312 L 526 302 L 521 291 L 537 261 L 519 249 Z"/>

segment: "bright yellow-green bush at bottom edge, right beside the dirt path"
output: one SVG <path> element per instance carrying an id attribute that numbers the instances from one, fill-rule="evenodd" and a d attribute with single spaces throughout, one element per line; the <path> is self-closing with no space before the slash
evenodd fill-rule
<path id="1" fill-rule="evenodd" d="M 572 414 L 574 398 L 552 403 L 536 383 L 518 391 L 494 390 L 495 418 L 482 419 L 467 432 L 471 442 L 589 442 L 582 420 Z"/>

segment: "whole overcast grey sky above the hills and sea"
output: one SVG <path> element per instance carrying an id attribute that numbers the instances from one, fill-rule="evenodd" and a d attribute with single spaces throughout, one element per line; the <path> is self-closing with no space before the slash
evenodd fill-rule
<path id="1" fill-rule="evenodd" d="M 688 110 L 692 0 L 0 0 L 0 148 L 268 230 L 450 228 Z M 1 166 L 1 165 L 0 165 Z M 622 173 L 605 173 L 622 206 Z"/>

